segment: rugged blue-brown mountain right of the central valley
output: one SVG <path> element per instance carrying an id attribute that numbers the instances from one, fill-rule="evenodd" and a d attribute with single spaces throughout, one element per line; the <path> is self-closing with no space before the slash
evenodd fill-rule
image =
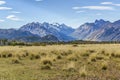
<path id="1" fill-rule="evenodd" d="M 120 20 L 111 23 L 100 19 L 94 23 L 85 23 L 72 36 L 79 40 L 120 41 Z"/>

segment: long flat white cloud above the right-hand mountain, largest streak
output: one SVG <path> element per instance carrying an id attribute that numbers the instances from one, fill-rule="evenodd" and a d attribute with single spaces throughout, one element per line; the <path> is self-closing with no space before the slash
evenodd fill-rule
<path id="1" fill-rule="evenodd" d="M 113 7 L 110 6 L 83 6 L 80 7 L 82 9 L 90 9 L 90 10 L 114 10 Z"/>

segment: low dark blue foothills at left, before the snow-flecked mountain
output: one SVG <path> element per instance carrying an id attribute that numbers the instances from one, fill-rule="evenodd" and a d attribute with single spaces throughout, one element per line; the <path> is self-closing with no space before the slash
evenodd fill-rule
<path id="1" fill-rule="evenodd" d="M 16 29 L 0 29 L 0 39 L 18 40 L 18 41 L 24 41 L 24 42 L 45 42 L 45 41 L 57 42 L 59 41 L 57 37 L 53 35 L 40 37 L 28 31 L 21 31 Z"/>

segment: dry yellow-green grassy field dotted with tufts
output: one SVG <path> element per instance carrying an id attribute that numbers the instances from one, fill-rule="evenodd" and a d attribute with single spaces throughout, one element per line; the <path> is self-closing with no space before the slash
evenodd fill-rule
<path id="1" fill-rule="evenodd" d="M 119 79 L 120 44 L 0 47 L 0 80 Z"/>

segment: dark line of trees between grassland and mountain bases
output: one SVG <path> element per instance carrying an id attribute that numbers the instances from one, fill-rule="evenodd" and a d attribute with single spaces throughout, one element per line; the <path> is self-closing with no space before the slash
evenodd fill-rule
<path id="1" fill-rule="evenodd" d="M 120 41 L 58 41 L 58 42 L 24 42 L 17 40 L 0 39 L 0 46 L 46 46 L 61 44 L 119 44 Z"/>

